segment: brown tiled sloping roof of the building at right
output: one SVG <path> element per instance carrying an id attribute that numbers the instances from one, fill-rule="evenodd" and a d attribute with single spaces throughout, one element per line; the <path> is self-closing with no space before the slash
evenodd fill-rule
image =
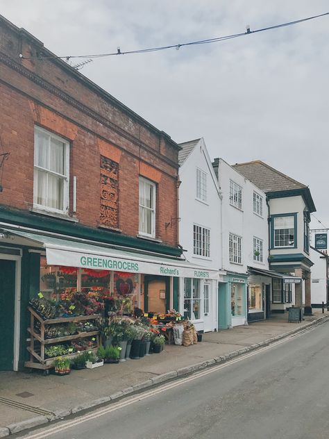
<path id="1" fill-rule="evenodd" d="M 236 163 L 233 167 L 264 192 L 306 189 L 307 186 L 267 165 L 261 160 Z"/>

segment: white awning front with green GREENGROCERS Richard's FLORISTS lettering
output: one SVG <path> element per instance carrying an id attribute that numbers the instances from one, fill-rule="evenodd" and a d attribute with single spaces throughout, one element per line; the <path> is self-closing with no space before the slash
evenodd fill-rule
<path id="1" fill-rule="evenodd" d="M 124 255 L 116 258 L 103 255 L 92 255 L 78 251 L 64 249 L 46 249 L 47 263 L 49 265 L 67 265 L 69 267 L 82 267 L 92 270 L 110 270 L 117 272 L 155 274 L 158 276 L 190 277 L 197 279 L 219 279 L 217 270 L 203 270 L 201 268 L 187 267 L 185 261 L 177 260 L 172 265 L 160 260 L 130 259 Z M 239 279 L 239 282 L 243 279 Z"/>

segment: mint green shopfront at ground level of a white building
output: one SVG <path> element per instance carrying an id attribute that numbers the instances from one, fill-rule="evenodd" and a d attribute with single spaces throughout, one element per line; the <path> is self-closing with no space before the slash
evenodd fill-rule
<path id="1" fill-rule="evenodd" d="M 218 291 L 218 328 L 247 324 L 247 274 L 227 272 Z"/>

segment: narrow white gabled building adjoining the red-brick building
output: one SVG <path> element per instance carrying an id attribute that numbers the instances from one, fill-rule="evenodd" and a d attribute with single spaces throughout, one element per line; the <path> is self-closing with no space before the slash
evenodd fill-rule
<path id="1" fill-rule="evenodd" d="M 180 144 L 180 245 L 195 265 L 219 270 L 221 264 L 220 191 L 203 138 Z M 197 331 L 218 328 L 218 280 L 181 278 L 179 310 Z"/>

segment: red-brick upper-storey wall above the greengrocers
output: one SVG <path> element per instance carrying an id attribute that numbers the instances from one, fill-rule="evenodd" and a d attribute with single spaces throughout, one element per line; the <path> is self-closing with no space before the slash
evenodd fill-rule
<path id="1" fill-rule="evenodd" d="M 138 233 L 138 179 L 143 175 L 157 185 L 157 238 L 176 245 L 177 145 L 67 65 L 19 60 L 20 52 L 27 56 L 44 50 L 42 43 L 1 17 L 0 34 L 0 133 L 5 151 L 10 152 L 0 205 L 23 210 L 33 207 L 37 124 L 71 144 L 70 215 L 76 176 L 74 215 L 80 224 L 99 226 L 102 154 L 119 163 L 122 233 Z"/>

